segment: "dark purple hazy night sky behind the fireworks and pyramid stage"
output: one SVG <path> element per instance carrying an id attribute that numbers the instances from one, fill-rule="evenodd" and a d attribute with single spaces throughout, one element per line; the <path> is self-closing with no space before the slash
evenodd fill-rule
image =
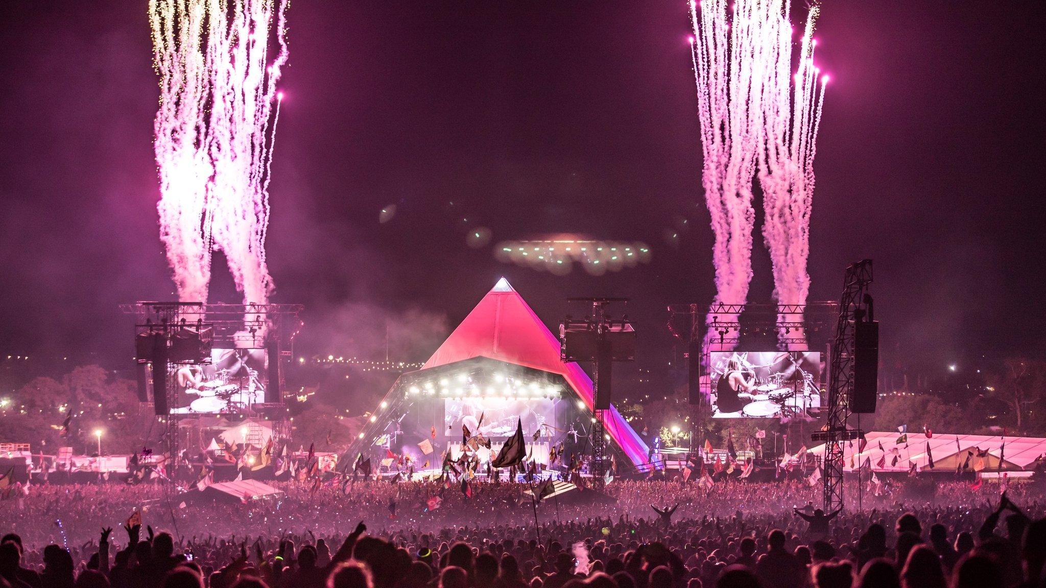
<path id="1" fill-rule="evenodd" d="M 130 360 L 117 304 L 174 289 L 146 2 L 13 4 L 0 353 Z M 306 306 L 302 349 L 378 359 L 388 322 L 392 355 L 424 359 L 505 275 L 549 324 L 568 296 L 631 297 L 640 360 L 670 359 L 665 304 L 713 295 L 686 2 L 296 0 L 288 19 L 268 254 L 274 300 Z M 873 258 L 892 361 L 1046 353 L 1044 27 L 1027 0 L 822 3 L 811 298 L 838 299 L 846 265 Z M 467 245 L 475 227 L 491 245 Z M 601 277 L 495 259 L 499 241 L 555 232 L 653 259 Z M 212 300 L 238 301 L 215 263 Z"/>

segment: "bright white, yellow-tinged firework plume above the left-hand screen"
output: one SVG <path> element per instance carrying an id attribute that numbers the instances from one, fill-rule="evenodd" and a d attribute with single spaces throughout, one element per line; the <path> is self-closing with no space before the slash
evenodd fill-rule
<path id="1" fill-rule="evenodd" d="M 245 301 L 272 291 L 265 238 L 286 9 L 286 0 L 150 2 L 160 236 L 182 300 L 207 300 L 214 248 Z"/>

